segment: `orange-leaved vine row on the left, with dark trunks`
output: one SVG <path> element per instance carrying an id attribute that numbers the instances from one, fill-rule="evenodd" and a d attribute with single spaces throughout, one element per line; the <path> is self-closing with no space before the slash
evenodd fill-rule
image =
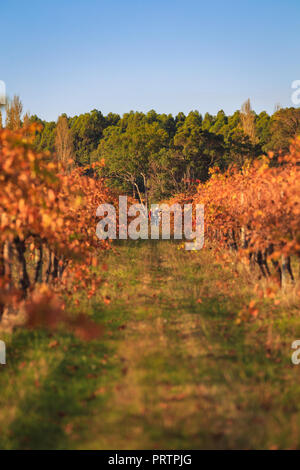
<path id="1" fill-rule="evenodd" d="M 109 248 L 96 236 L 96 209 L 115 196 L 85 169 L 66 173 L 53 156 L 35 152 L 34 132 L 0 129 L 0 318 L 7 305 L 27 299 L 29 324 L 48 303 L 52 326 L 59 308 L 45 295 L 31 306 L 28 298 L 41 283 L 68 295 L 79 287 L 95 292 L 101 280 L 90 266 Z"/>

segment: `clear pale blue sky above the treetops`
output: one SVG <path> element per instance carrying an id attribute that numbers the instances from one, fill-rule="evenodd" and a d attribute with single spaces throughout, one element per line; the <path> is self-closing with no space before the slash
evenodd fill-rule
<path id="1" fill-rule="evenodd" d="M 299 0 L 0 0 L 0 80 L 44 119 L 292 106 Z"/>

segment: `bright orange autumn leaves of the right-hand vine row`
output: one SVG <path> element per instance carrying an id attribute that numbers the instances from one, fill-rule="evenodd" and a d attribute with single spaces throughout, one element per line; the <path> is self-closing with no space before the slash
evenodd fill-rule
<path id="1" fill-rule="evenodd" d="M 204 204 L 206 239 L 231 240 L 252 252 L 272 246 L 274 258 L 300 256 L 300 139 L 281 157 L 281 166 L 271 161 L 269 155 L 242 171 L 211 170 L 196 194 L 169 203 Z"/>

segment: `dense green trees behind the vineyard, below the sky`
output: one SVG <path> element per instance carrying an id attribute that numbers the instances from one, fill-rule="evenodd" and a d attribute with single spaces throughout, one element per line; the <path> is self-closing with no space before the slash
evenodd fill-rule
<path id="1" fill-rule="evenodd" d="M 6 113 L 10 128 L 21 112 L 17 97 L 14 100 Z M 41 125 L 35 140 L 38 151 L 56 152 L 59 159 L 78 166 L 104 160 L 102 175 L 109 184 L 146 202 L 206 181 L 211 167 L 241 168 L 269 151 L 275 156 L 286 153 L 300 134 L 300 109 L 256 114 L 249 100 L 230 116 L 223 110 L 217 115 L 191 111 L 176 116 L 150 110 L 121 117 L 94 109 L 74 117 L 63 114 L 57 122 L 25 118 Z"/>

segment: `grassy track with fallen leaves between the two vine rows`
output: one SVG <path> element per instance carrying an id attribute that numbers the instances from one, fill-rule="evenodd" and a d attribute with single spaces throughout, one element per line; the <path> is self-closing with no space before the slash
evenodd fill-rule
<path id="1" fill-rule="evenodd" d="M 262 299 L 255 321 L 238 324 L 251 277 L 178 246 L 132 242 L 109 254 L 102 289 L 80 299 L 105 325 L 99 341 L 5 338 L 0 448 L 300 447 L 296 301 L 287 311 Z"/>

